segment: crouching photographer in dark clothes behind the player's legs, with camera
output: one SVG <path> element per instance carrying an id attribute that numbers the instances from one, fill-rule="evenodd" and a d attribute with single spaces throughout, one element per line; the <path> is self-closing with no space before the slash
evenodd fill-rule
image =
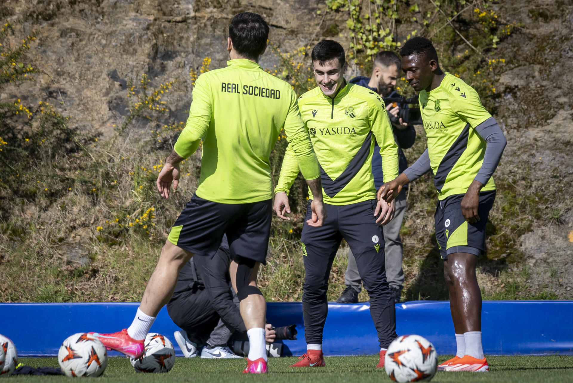
<path id="1" fill-rule="evenodd" d="M 182 329 L 175 331 L 174 337 L 186 358 L 198 355 L 202 358 L 242 358 L 249 352 L 239 300 L 231 286 L 229 265 L 229 244 L 223 236 L 213 259 L 193 257 L 179 273 L 173 297 L 167 303 L 167 313 Z M 270 356 L 280 356 L 282 344 L 273 345 L 273 342 L 295 337 L 294 326 L 274 329 L 267 324 L 267 352 Z"/>

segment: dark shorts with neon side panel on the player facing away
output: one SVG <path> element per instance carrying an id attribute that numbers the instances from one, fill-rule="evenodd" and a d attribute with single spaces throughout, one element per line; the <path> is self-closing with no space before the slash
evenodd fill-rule
<path id="1" fill-rule="evenodd" d="M 229 240 L 231 258 L 236 256 L 266 264 L 272 200 L 230 204 L 193 195 L 169 233 L 169 241 L 197 255 L 213 258 L 223 234 Z"/>

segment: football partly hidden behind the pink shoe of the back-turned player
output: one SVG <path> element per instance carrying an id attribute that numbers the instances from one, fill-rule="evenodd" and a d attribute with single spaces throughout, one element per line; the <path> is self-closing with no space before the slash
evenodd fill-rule
<path id="1" fill-rule="evenodd" d="M 143 356 L 131 359 L 136 372 L 168 372 L 175 363 L 175 349 L 161 334 L 148 333 Z"/>

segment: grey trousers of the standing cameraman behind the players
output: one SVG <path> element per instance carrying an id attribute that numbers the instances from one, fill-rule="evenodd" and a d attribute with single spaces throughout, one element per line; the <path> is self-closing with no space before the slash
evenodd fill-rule
<path id="1" fill-rule="evenodd" d="M 402 289 L 404 284 L 404 270 L 402 270 L 403 247 L 400 238 L 400 228 L 406 212 L 406 192 L 402 189 L 396 198 L 396 211 L 394 219 L 383 227 L 384 254 L 386 256 L 386 279 L 390 287 Z M 348 267 L 344 273 L 346 286 L 358 286 L 362 289 L 362 279 L 358 273 L 356 259 L 350 248 L 348 249 Z"/>

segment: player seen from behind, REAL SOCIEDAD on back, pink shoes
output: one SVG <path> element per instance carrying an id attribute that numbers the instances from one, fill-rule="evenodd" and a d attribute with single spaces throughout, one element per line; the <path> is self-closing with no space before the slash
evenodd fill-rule
<path id="1" fill-rule="evenodd" d="M 236 15 L 229 25 L 227 67 L 197 78 L 187 125 L 159 173 L 157 188 L 164 198 L 171 185 L 176 190 L 179 163 L 202 141 L 199 185 L 171 228 L 131 326 L 95 334 L 108 348 L 140 356 L 151 324 L 173 294 L 179 271 L 194 254 L 212 258 L 226 234 L 233 259 L 231 282 L 250 343 L 244 372 L 266 373 L 266 303 L 257 287 L 257 272 L 265 263 L 272 216 L 269 155 L 281 129 L 311 190 L 321 188 L 319 164 L 292 87 L 258 65 L 268 34 L 260 15 Z M 312 210 L 307 224 L 320 227 L 325 218 L 321 199 L 313 201 Z"/>

